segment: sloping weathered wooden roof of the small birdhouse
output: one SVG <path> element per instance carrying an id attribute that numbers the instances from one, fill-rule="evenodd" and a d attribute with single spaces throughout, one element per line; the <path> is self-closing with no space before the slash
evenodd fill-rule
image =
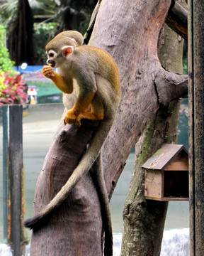
<path id="1" fill-rule="evenodd" d="M 166 166 L 171 164 L 171 161 L 174 161 L 174 159 L 176 159 L 176 156 L 178 158 L 179 154 L 181 154 L 182 158 L 184 156 L 186 161 L 188 161 L 188 151 L 183 145 L 163 144 L 162 147 L 158 149 L 145 162 L 145 164 L 143 164 L 142 168 L 162 171 L 165 169 Z M 184 168 L 186 168 L 186 166 Z"/>

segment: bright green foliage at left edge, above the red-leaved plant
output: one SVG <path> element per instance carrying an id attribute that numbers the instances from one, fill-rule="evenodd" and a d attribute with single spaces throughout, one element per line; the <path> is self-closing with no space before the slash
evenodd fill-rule
<path id="1" fill-rule="evenodd" d="M 12 70 L 13 61 L 11 61 L 8 49 L 5 47 L 5 29 L 0 25 L 0 70 L 7 72 Z"/>

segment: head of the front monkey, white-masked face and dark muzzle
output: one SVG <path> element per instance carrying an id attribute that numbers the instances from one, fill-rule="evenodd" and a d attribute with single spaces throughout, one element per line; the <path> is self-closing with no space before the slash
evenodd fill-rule
<path id="1" fill-rule="evenodd" d="M 75 43 L 72 38 L 67 38 L 60 33 L 55 36 L 47 45 L 45 50 L 47 53 L 47 64 L 52 68 L 60 68 L 67 56 L 75 50 Z"/>

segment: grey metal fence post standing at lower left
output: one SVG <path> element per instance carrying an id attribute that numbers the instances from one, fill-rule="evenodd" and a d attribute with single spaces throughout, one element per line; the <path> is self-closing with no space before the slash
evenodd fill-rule
<path id="1" fill-rule="evenodd" d="M 4 178 L 7 207 L 5 214 L 10 220 L 5 225 L 8 230 L 8 241 L 11 244 L 13 255 L 21 256 L 21 242 L 23 241 L 22 226 L 22 169 L 23 169 L 23 129 L 22 105 L 7 105 L 3 107 L 4 120 Z M 8 177 L 8 178 L 7 178 Z M 8 206 L 9 205 L 9 206 Z M 6 212 L 8 210 L 8 212 Z M 4 230 L 4 235 L 6 230 Z"/>

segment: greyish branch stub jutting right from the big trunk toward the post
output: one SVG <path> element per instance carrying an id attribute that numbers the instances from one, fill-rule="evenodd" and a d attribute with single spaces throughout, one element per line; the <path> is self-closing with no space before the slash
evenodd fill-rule
<path id="1" fill-rule="evenodd" d="M 188 75 L 171 73 L 161 69 L 154 80 L 158 101 L 162 105 L 168 105 L 172 100 L 179 100 L 188 94 Z"/>

